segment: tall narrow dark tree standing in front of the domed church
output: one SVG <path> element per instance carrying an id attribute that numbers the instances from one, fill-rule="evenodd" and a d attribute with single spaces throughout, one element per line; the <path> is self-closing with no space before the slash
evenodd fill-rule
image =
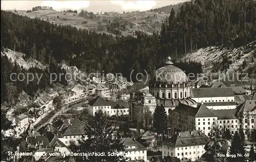
<path id="1" fill-rule="evenodd" d="M 162 134 L 167 129 L 167 115 L 164 106 L 157 106 L 153 116 L 153 128 L 157 134 Z"/>

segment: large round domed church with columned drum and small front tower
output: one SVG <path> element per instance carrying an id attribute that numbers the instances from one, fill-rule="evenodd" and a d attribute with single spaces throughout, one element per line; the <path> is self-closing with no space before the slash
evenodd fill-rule
<path id="1" fill-rule="evenodd" d="M 186 74 L 173 65 L 168 57 L 165 65 L 158 68 L 156 76 L 150 81 L 150 94 L 142 97 L 145 106 L 153 108 L 163 105 L 167 114 L 180 103 L 197 106 L 197 102 L 190 98 L 190 82 Z M 155 101 L 152 101 L 153 98 Z"/>

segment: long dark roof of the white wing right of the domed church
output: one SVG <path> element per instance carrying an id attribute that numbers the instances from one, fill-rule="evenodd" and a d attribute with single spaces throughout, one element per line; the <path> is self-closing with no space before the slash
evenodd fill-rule
<path id="1" fill-rule="evenodd" d="M 223 88 L 194 88 L 191 91 L 191 97 L 230 97 L 234 96 L 231 87 Z"/>

